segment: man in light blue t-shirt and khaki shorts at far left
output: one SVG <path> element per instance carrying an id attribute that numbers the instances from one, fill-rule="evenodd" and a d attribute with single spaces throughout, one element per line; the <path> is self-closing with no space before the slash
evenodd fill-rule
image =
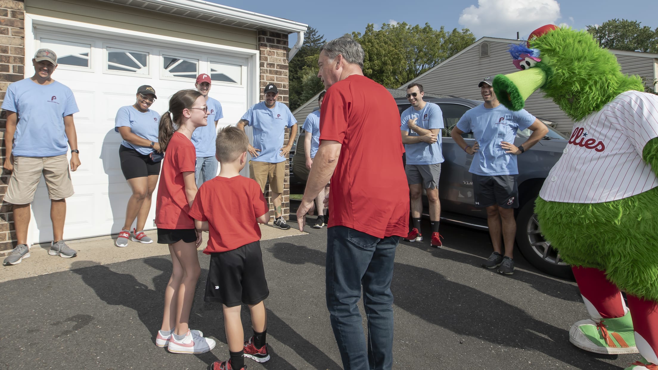
<path id="1" fill-rule="evenodd" d="M 73 114 L 78 105 L 70 88 L 53 80 L 57 55 L 39 49 L 32 59 L 34 76 L 9 85 L 2 109 L 7 112 L 5 163 L 11 172 L 5 201 L 14 205 L 16 248 L 3 265 L 16 265 L 30 257 L 27 246 L 30 203 L 34 199 L 41 174 L 51 200 L 53 242 L 48 254 L 71 258 L 78 253 L 64 243 L 66 198 L 73 195 L 73 184 L 66 157 L 71 149 L 70 171 L 80 166 L 78 138 Z"/>

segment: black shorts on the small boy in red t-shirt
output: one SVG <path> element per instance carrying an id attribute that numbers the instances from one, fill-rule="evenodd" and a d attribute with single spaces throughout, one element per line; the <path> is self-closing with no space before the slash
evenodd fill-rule
<path id="1" fill-rule="evenodd" d="M 263 269 L 261 242 L 238 249 L 210 253 L 210 267 L 205 302 L 219 302 L 226 307 L 255 305 L 270 295 Z"/>

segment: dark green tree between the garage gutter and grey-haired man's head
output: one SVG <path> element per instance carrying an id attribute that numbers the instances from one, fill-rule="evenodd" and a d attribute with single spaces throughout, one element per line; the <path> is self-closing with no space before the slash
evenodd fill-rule
<path id="1" fill-rule="evenodd" d="M 309 27 L 304 35 L 303 45 L 288 65 L 291 111 L 324 89 L 322 81 L 317 76 L 320 47 L 325 42 L 324 35 L 318 34 L 318 30 Z"/>

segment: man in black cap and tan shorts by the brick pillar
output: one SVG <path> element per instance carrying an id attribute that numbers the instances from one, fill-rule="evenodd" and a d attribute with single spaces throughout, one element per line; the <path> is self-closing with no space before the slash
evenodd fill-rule
<path id="1" fill-rule="evenodd" d="M 245 126 L 253 128 L 253 146 L 249 145 L 249 173 L 265 192 L 265 184 L 269 180 L 274 205 L 274 226 L 288 230 L 290 226 L 283 218 L 281 194 L 284 192 L 286 178 L 286 159 L 297 136 L 297 120 L 284 103 L 276 101 L 279 90 L 274 84 L 267 84 L 263 91 L 265 101 L 249 107 L 238 128 Z M 288 145 L 284 145 L 286 128 L 290 128 Z"/>

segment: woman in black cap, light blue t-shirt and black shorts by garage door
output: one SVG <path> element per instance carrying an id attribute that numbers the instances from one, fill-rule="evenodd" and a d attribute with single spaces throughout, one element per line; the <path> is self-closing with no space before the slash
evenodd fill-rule
<path id="1" fill-rule="evenodd" d="M 123 138 L 119 146 L 121 171 L 132 190 L 126 207 L 126 222 L 114 242 L 117 247 L 128 246 L 128 239 L 144 244 L 153 243 L 143 230 L 163 158 L 158 144 L 160 115 L 149 109 L 157 99 L 151 86 L 139 86 L 136 97 L 137 101 L 133 105 L 120 107 L 114 118 L 114 131 Z M 135 219 L 137 225 L 131 237 L 130 226 Z"/>

